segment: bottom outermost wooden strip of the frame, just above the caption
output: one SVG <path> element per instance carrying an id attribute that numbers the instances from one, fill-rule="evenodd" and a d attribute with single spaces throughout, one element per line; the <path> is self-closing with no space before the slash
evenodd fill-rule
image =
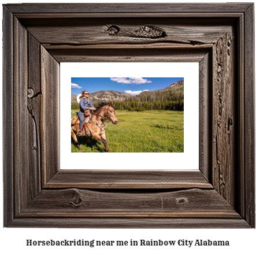
<path id="1" fill-rule="evenodd" d="M 232 218 L 19 218 L 9 227 L 34 228 L 251 228 L 243 219 Z"/>

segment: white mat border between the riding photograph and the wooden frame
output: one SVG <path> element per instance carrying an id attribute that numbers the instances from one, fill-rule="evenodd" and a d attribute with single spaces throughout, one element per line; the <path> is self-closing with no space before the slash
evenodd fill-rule
<path id="1" fill-rule="evenodd" d="M 184 152 L 182 153 L 90 153 L 90 159 L 111 159 L 118 169 L 199 169 L 198 62 L 84 62 L 61 63 L 61 169 L 81 161 L 86 153 L 71 152 L 71 77 L 184 77 Z M 169 84 L 170 85 L 170 84 Z M 121 84 L 120 84 L 121 86 Z M 166 86 L 167 87 L 167 86 Z M 90 84 L 86 90 L 90 92 Z M 133 85 L 140 90 L 140 85 Z M 83 89 L 76 89 L 81 92 Z M 191 96 L 193 94 L 193 96 Z M 90 97 L 89 97 L 90 98 Z M 117 114 L 118 118 L 118 114 Z M 110 122 L 110 124 L 112 124 Z M 117 124 L 117 129 L 120 125 Z M 107 136 L 106 128 L 106 136 Z M 103 146 L 103 145 L 102 145 Z M 71 163 L 72 161 L 72 163 Z M 125 161 L 125 162 L 124 162 Z M 191 166 L 191 164 L 193 166 Z M 80 167 L 80 169 L 86 169 Z M 98 169 L 98 168 L 90 168 Z M 111 166 L 106 169 L 112 169 Z"/>

